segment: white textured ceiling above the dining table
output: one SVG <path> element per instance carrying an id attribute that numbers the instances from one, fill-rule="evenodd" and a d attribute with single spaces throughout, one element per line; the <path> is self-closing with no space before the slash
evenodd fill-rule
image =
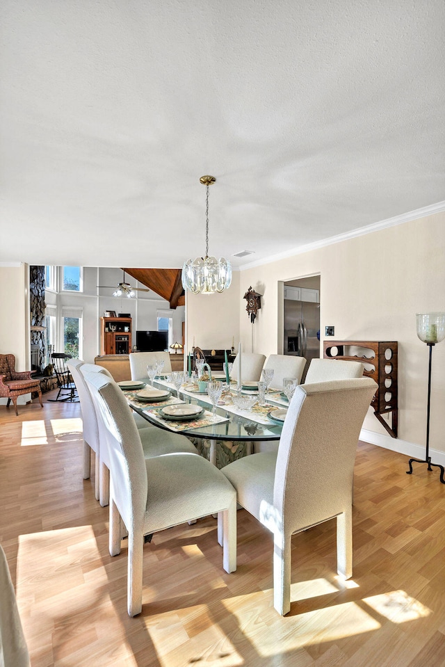
<path id="1" fill-rule="evenodd" d="M 0 21 L 0 262 L 179 267 L 204 254 L 204 174 L 234 266 L 445 200 L 443 0 L 3 0 Z"/>

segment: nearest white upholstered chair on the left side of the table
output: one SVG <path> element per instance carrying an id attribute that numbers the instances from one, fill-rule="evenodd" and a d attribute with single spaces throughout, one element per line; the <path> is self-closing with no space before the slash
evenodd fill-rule
<path id="1" fill-rule="evenodd" d="M 144 458 L 140 431 L 119 387 L 100 373 L 86 375 L 110 454 L 111 556 L 120 554 L 122 522 L 128 531 L 127 609 L 142 611 L 145 536 L 218 514 L 223 523 L 223 567 L 236 570 L 236 492 L 209 461 L 187 452 Z"/>

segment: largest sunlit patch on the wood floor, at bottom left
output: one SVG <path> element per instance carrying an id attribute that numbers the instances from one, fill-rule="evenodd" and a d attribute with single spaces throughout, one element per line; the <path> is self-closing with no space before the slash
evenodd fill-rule
<path id="1" fill-rule="evenodd" d="M 38 637 L 40 646 L 54 641 L 57 664 L 87 664 L 85 652 L 94 654 L 95 641 L 83 648 L 78 636 L 81 618 L 98 645 L 110 632 L 120 639 L 116 664 L 137 665 L 120 620 L 127 608 L 111 604 L 111 587 L 91 526 L 19 536 L 16 588 L 24 633 L 33 643 Z"/>

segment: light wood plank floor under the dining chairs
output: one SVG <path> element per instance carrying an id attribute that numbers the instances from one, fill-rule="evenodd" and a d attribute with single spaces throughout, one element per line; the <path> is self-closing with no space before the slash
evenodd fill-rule
<path id="1" fill-rule="evenodd" d="M 211 517 L 156 533 L 129 618 L 127 549 L 109 556 L 82 479 L 79 404 L 0 406 L 0 433 L 0 543 L 32 667 L 445 665 L 445 485 L 426 466 L 408 476 L 407 457 L 359 443 L 353 579 L 337 579 L 334 522 L 295 536 L 289 616 L 270 535 L 238 511 L 237 572 Z"/>

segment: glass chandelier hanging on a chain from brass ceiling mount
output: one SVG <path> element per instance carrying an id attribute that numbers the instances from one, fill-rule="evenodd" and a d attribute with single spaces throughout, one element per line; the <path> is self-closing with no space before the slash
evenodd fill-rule
<path id="1" fill-rule="evenodd" d="M 214 176 L 202 176 L 206 186 L 206 256 L 186 259 L 182 267 L 182 287 L 193 294 L 214 294 L 229 289 L 232 282 L 232 265 L 225 257 L 209 257 L 209 186 Z"/>

